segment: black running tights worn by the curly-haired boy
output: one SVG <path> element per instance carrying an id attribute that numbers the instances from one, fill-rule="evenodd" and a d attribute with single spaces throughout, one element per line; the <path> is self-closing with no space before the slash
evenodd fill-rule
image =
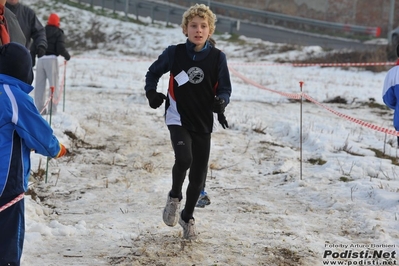
<path id="1" fill-rule="evenodd" d="M 172 169 L 172 197 L 181 197 L 187 170 L 189 184 L 186 191 L 186 204 L 182 218 L 188 222 L 193 217 L 198 197 L 205 184 L 211 149 L 211 134 L 196 133 L 181 126 L 168 126 L 170 139 L 175 152 Z"/>

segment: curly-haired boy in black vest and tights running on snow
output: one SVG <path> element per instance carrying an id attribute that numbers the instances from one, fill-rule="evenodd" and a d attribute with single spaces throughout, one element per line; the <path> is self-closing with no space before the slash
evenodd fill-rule
<path id="1" fill-rule="evenodd" d="M 189 240 L 197 238 L 193 214 L 207 174 L 215 115 L 224 128 L 228 127 L 224 110 L 232 89 L 226 55 L 209 41 L 215 23 L 215 14 L 204 4 L 186 10 L 181 24 L 186 43 L 163 51 L 149 67 L 144 87 L 151 108 L 160 107 L 166 100 L 165 122 L 175 154 L 163 221 L 168 226 L 179 222 L 183 238 Z M 157 92 L 157 86 L 167 72 L 170 77 L 165 96 Z M 186 202 L 179 213 L 188 170 Z"/>

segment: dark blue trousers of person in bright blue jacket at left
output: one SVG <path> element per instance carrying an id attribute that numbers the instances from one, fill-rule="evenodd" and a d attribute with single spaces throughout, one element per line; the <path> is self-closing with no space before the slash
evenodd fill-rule
<path id="1" fill-rule="evenodd" d="M 0 198 L 0 207 L 15 197 Z M 25 203 L 22 199 L 0 212 L 0 266 L 20 265 L 24 237 Z"/>

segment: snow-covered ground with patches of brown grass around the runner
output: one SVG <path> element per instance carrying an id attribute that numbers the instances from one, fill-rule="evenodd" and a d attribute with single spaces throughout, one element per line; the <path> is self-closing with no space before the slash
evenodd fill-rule
<path id="1" fill-rule="evenodd" d="M 290 100 L 303 81 L 303 92 L 319 103 L 348 100 L 325 104 L 331 110 L 392 129 L 392 112 L 370 107 L 382 104 L 384 72 L 275 64 L 323 50 L 269 55 L 284 44 L 216 35 L 231 69 L 230 128 L 212 135 L 212 204 L 196 209 L 199 240 L 187 242 L 179 225 L 162 221 L 173 151 L 163 108 L 151 109 L 143 89 L 152 61 L 185 41 L 181 29 L 121 22 L 53 1 L 23 3 L 43 23 L 57 12 L 67 38 L 93 21 L 103 23 L 106 36 L 117 31 L 122 38 L 71 50 L 65 109 L 51 118 L 70 154 L 48 162 L 47 182 L 46 158 L 32 155 L 22 265 L 383 265 L 379 255 L 397 263 L 396 137 Z M 158 90 L 166 92 L 167 84 L 165 75 Z"/>

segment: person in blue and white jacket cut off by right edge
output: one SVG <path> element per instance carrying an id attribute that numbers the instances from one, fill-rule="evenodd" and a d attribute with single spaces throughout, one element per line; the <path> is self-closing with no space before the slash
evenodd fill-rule
<path id="1" fill-rule="evenodd" d="M 396 54 L 399 57 L 399 45 L 396 47 Z M 393 126 L 399 131 L 399 60 L 386 74 L 382 89 L 382 100 L 389 108 L 394 110 Z M 399 137 L 398 147 L 399 147 Z"/>

